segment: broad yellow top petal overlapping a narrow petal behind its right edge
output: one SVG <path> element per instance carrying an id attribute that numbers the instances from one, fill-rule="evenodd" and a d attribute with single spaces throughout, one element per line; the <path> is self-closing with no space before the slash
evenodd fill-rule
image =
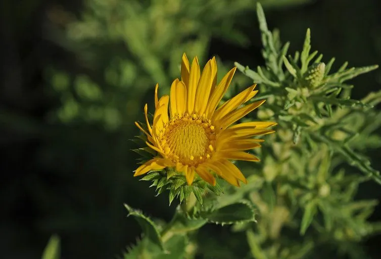
<path id="1" fill-rule="evenodd" d="M 203 115 L 208 104 L 210 90 L 212 89 L 212 83 L 214 79 L 212 60 L 209 60 L 205 65 L 205 68 L 201 74 L 200 81 L 196 92 L 195 112 L 199 115 Z"/>

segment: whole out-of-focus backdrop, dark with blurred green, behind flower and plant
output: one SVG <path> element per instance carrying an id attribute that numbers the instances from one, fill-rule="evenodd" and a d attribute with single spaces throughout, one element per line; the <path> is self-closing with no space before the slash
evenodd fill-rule
<path id="1" fill-rule="evenodd" d="M 176 204 L 132 177 L 146 102 L 168 93 L 181 55 L 217 56 L 219 77 L 234 61 L 261 65 L 255 0 L 87 0 L 0 6 L 0 257 L 39 258 L 49 237 L 62 258 L 113 258 L 140 235 L 123 203 L 170 220 Z M 381 2 L 263 0 L 270 28 L 291 52 L 311 28 L 312 49 L 336 65 L 381 64 Z M 335 66 L 335 65 L 334 65 Z M 336 67 L 337 68 L 337 67 Z M 238 87 L 250 83 L 239 72 Z M 352 81 L 353 98 L 379 90 L 381 70 Z M 381 169 L 379 152 L 368 154 Z M 353 168 L 352 168 L 353 170 Z M 359 198 L 377 198 L 366 183 Z M 378 206 L 370 218 L 381 220 Z M 237 246 L 208 226 L 216 245 Z M 380 236 L 364 249 L 378 258 Z M 243 246 L 243 247 L 246 247 Z"/>

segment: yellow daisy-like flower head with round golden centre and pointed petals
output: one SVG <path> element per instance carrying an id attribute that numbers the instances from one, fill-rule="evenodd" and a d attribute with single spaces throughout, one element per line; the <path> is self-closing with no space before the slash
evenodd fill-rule
<path id="1" fill-rule="evenodd" d="M 216 85 L 217 64 L 214 57 L 200 75 L 197 57 L 189 66 L 183 54 L 181 80 L 173 81 L 170 96 L 165 95 L 159 100 L 156 84 L 153 124 L 147 117 L 147 104 L 144 107 L 148 132 L 135 122 L 147 135 L 146 144 L 157 151 L 158 156 L 139 166 L 134 176 L 173 167 L 185 174 L 188 185 L 192 185 L 195 173 L 215 185 L 211 171 L 234 186 L 240 185 L 239 180 L 247 183 L 241 170 L 230 160 L 259 161 L 256 156 L 244 151 L 260 147 L 259 142 L 263 140 L 251 137 L 273 133 L 273 130 L 266 128 L 276 123 L 244 122 L 232 125 L 265 102 L 261 100 L 242 106 L 257 94 L 258 91 L 254 91 L 256 84 L 217 108 L 235 69 L 232 68 Z"/>

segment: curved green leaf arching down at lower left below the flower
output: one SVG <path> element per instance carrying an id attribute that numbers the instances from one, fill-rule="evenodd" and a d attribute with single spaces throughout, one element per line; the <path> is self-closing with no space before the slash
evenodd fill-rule
<path id="1" fill-rule="evenodd" d="M 140 211 L 131 208 L 127 204 L 124 204 L 124 207 L 128 211 L 129 216 L 133 216 L 135 220 L 139 223 L 143 233 L 144 233 L 144 238 L 148 239 L 150 241 L 150 250 L 164 250 L 163 243 L 160 238 L 160 234 L 158 231 L 158 228 L 156 224 L 146 215 L 141 213 Z"/>

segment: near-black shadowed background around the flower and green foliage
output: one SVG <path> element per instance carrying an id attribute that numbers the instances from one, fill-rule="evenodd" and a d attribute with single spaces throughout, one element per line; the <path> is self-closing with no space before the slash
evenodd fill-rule
<path id="1" fill-rule="evenodd" d="M 57 233 L 63 258 L 111 258 L 140 233 L 137 224 L 126 219 L 124 202 L 167 221 L 175 204 L 168 208 L 165 195 L 155 197 L 148 183 L 132 178 L 136 155 L 129 152 L 128 139 L 137 133 L 132 126 L 111 133 L 84 121 L 46 122 L 46 114 L 60 106 L 60 100 L 49 92 L 45 68 L 60 64 L 81 69 L 73 53 L 46 35 L 46 12 L 55 4 L 74 13 L 82 8 L 73 0 L 0 5 L 0 257 L 39 258 L 49 237 Z M 336 57 L 336 68 L 345 61 L 350 66 L 381 64 L 378 0 L 314 1 L 265 13 L 269 27 L 279 28 L 281 39 L 291 41 L 291 53 L 301 49 L 310 27 L 312 49 L 325 58 Z M 213 38 L 209 56 L 218 54 L 227 64 L 262 63 L 255 11 L 244 17 L 236 26 L 251 43 L 236 47 Z M 381 71 L 352 83 L 353 98 L 359 99 L 379 90 Z M 379 152 L 368 155 L 381 169 Z M 381 201 L 381 188 L 363 184 L 359 197 Z M 370 220 L 381 220 L 380 206 Z M 365 241 L 372 258 L 378 258 L 380 242 L 379 235 Z"/>

